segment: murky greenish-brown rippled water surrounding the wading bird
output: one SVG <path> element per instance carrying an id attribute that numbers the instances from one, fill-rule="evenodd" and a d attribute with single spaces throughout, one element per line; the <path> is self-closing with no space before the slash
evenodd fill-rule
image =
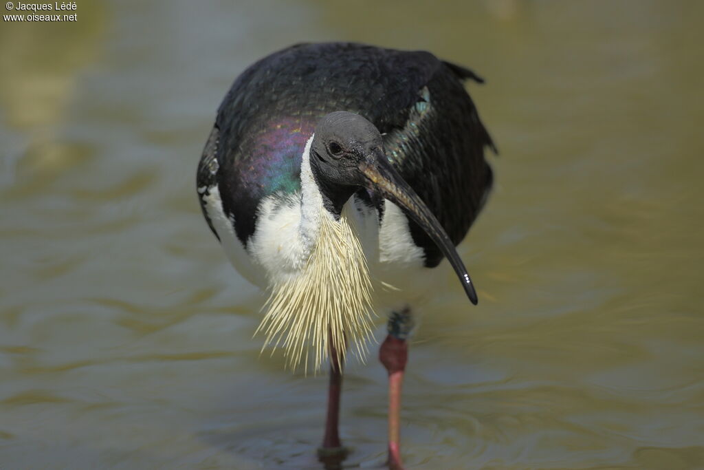
<path id="1" fill-rule="evenodd" d="M 316 468 L 326 379 L 259 357 L 262 297 L 194 189 L 230 82 L 306 39 L 488 79 L 498 185 L 462 247 L 482 302 L 448 276 L 413 340 L 408 466 L 704 468 L 704 5 L 457 4 L 96 0 L 0 24 L 0 468 Z M 348 464 L 384 460 L 385 381 L 349 370 Z"/>

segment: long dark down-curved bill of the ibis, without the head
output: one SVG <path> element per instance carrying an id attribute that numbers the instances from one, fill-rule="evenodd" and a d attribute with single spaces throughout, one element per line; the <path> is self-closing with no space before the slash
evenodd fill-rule
<path id="1" fill-rule="evenodd" d="M 401 178 L 391 163 L 386 161 L 384 151 L 375 149 L 367 154 L 365 161 L 360 163 L 359 169 L 364 175 L 365 186 L 368 190 L 401 207 L 432 238 L 450 261 L 452 267 L 455 268 L 455 273 L 460 278 L 460 283 L 465 288 L 470 302 L 476 305 L 477 291 L 474 290 L 470 275 L 467 273 L 467 268 L 460 259 L 460 255 L 457 254 L 455 245 L 430 209 L 415 194 L 413 188 Z"/>

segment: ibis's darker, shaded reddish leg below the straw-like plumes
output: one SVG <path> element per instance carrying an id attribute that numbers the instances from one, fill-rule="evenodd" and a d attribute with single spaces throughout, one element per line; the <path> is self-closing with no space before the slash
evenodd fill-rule
<path id="1" fill-rule="evenodd" d="M 344 360 L 344 359 L 343 359 Z M 330 341 L 330 379 L 327 389 L 327 416 L 325 419 L 325 435 L 322 438 L 322 446 L 318 449 L 318 456 L 327 462 L 329 459 L 344 459 L 347 454 L 345 447 L 342 447 L 338 432 L 340 395 L 342 391 L 342 360 L 339 353 Z M 324 463 L 325 463 L 324 462 Z"/>

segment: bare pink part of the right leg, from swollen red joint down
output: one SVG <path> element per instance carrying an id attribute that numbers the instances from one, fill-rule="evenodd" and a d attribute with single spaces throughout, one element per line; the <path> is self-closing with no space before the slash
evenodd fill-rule
<path id="1" fill-rule="evenodd" d="M 389 372 L 389 469 L 403 469 L 400 449 L 400 423 L 401 416 L 401 383 L 403 371 L 406 370 L 408 361 L 408 344 L 406 340 L 395 338 L 391 334 L 379 349 L 379 361 L 384 364 Z"/>

